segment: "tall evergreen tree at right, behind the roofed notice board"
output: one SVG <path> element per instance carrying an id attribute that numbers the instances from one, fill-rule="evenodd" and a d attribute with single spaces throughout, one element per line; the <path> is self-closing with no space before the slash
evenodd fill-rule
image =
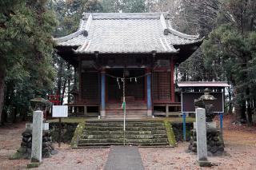
<path id="1" fill-rule="evenodd" d="M 234 105 L 238 119 L 252 125 L 255 108 L 256 2 L 233 0 L 223 4 L 229 17 L 220 14 L 218 26 L 203 44 L 206 64 L 222 69 L 234 85 Z M 215 65 L 214 63 L 218 63 Z"/>

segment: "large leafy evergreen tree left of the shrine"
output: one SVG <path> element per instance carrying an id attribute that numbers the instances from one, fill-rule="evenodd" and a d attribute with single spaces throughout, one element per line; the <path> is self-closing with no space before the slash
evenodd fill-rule
<path id="1" fill-rule="evenodd" d="M 45 0 L 1 1 L 0 10 L 0 117 L 26 113 L 29 100 L 53 87 L 51 33 L 57 21 Z M 8 100 L 7 100 L 8 99 Z M 16 115 L 16 114 L 15 114 Z M 2 122 L 2 119 L 0 120 Z"/>

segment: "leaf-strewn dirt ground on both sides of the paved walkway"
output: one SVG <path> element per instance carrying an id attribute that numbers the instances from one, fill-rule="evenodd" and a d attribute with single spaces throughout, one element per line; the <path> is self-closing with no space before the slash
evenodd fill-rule
<path id="1" fill-rule="evenodd" d="M 218 121 L 218 120 L 217 120 Z M 256 170 L 256 127 L 232 125 L 232 118 L 224 117 L 224 140 L 226 156 L 209 157 L 214 164 L 206 169 Z M 18 149 L 25 124 L 0 128 L 0 169 L 25 169 L 30 160 L 9 160 Z M 145 169 L 205 169 L 198 168 L 197 156 L 186 153 L 188 143 L 179 143 L 176 148 L 139 148 Z M 102 169 L 109 148 L 71 149 L 67 144 L 58 148 L 58 154 L 43 159 L 38 169 Z"/>

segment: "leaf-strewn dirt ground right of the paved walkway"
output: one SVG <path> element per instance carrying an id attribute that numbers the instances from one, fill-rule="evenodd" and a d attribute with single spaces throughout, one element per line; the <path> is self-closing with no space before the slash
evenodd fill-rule
<path id="1" fill-rule="evenodd" d="M 218 122 L 218 119 L 216 120 Z M 256 170 L 256 127 L 232 125 L 232 117 L 223 121 L 225 156 L 208 157 L 214 164 L 211 168 L 199 168 L 197 155 L 186 153 L 189 143 L 179 143 L 176 148 L 139 148 L 144 168 L 167 169 L 242 169 Z"/>

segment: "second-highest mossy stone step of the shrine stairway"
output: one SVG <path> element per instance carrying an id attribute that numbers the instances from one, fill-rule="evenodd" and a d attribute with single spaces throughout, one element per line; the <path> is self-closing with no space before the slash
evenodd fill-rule
<path id="1" fill-rule="evenodd" d="M 163 126 L 156 126 L 156 127 L 126 127 L 126 131 L 136 131 L 136 130 L 165 130 L 166 128 Z M 123 130 L 123 127 L 97 127 L 97 126 L 89 126 L 84 128 L 85 131 L 116 131 L 116 130 Z"/>

